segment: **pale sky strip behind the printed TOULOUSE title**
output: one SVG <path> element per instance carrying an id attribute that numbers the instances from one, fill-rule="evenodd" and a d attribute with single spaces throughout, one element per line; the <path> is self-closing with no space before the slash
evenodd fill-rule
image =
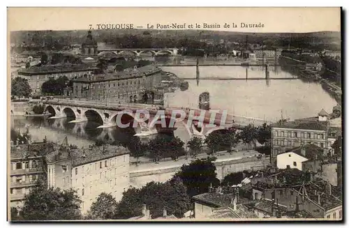
<path id="1" fill-rule="evenodd" d="M 204 29 L 203 23 L 221 27 L 207 29 L 240 32 L 341 31 L 340 8 L 8 8 L 8 30 L 98 29 L 98 24 L 186 24 L 184 29 Z M 227 23 L 230 28 L 223 25 Z M 232 24 L 237 27 L 232 27 Z M 244 24 L 263 27 L 242 28 Z M 91 24 L 91 27 L 90 27 Z M 200 24 L 200 28 L 195 28 Z M 99 27 L 101 29 L 101 26 Z"/>

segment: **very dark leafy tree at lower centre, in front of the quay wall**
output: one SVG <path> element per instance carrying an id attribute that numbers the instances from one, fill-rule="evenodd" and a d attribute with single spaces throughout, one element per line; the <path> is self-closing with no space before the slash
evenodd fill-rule
<path id="1" fill-rule="evenodd" d="M 213 161 L 211 158 L 193 160 L 174 174 L 174 178 L 181 178 L 190 197 L 207 192 L 211 184 L 215 187 L 219 185 Z"/>

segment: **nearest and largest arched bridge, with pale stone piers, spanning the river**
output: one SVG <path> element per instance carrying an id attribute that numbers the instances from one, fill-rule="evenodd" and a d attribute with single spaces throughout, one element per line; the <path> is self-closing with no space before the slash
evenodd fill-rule
<path id="1" fill-rule="evenodd" d="M 147 110 L 150 114 L 147 121 L 147 123 L 150 123 L 148 126 L 150 126 L 150 128 L 155 127 L 157 130 L 159 130 L 158 124 L 154 125 L 154 123 L 161 119 L 161 116 L 157 116 L 156 114 L 162 110 L 158 109 L 158 107 L 155 107 L 154 105 L 135 103 L 121 104 L 119 102 L 106 102 L 103 104 L 103 101 L 98 100 L 61 99 L 45 100 L 43 103 L 46 105 L 45 110 L 54 115 L 51 117 L 53 119 L 62 119 L 69 116 L 75 119 L 73 122 L 80 123 L 86 122 L 92 118 L 94 121 L 101 124 L 101 126 L 98 126 L 98 128 L 112 128 L 117 126 L 117 118 L 121 119 L 122 124 L 131 123 L 134 120 L 138 123 L 142 123 L 144 121 L 140 118 L 139 114 L 137 116 L 136 111 Z M 130 112 L 125 112 L 126 110 Z M 178 112 L 176 112 L 176 110 L 184 111 L 186 114 L 185 118 L 180 119 L 181 116 Z M 195 135 L 198 137 L 205 137 L 209 135 L 210 132 L 215 130 L 224 130 L 227 128 L 242 129 L 248 124 L 260 126 L 263 123 L 271 123 L 270 121 L 265 121 L 262 119 L 235 116 L 232 114 L 226 114 L 225 117 L 223 112 L 188 109 L 184 107 L 166 107 L 163 109 L 163 112 L 165 113 L 166 128 L 169 127 L 169 123 L 171 123 L 171 121 L 174 124 L 180 121 L 184 123 L 189 135 Z M 173 116 L 172 112 L 174 113 Z M 193 119 L 193 121 L 188 121 L 189 116 L 194 116 L 193 118 L 189 118 Z M 199 116 L 200 119 L 202 119 L 202 126 L 198 125 Z"/>

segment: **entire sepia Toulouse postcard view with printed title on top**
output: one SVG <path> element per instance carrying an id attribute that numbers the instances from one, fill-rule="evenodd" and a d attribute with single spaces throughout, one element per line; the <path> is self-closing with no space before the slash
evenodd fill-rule
<path id="1" fill-rule="evenodd" d="M 8 8 L 8 220 L 343 220 L 341 13 Z"/>

